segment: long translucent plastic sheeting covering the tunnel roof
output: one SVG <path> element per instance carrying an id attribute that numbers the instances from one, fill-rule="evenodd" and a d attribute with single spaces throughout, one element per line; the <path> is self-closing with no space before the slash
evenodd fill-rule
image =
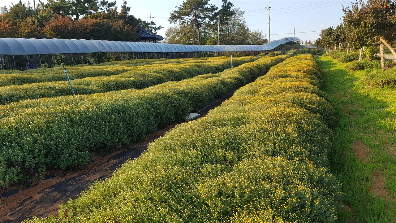
<path id="1" fill-rule="evenodd" d="M 295 41 L 300 41 L 300 39 L 297 37 L 286 37 L 273 40 L 264 45 L 198 46 L 108 40 L 0 38 L 0 55 L 75 54 L 94 52 L 246 52 L 272 50 L 281 44 Z"/>

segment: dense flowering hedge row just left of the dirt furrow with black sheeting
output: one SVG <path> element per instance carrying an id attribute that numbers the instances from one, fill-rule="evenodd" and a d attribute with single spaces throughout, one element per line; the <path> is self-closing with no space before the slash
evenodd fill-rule
<path id="1" fill-rule="evenodd" d="M 287 57 L 263 57 L 225 72 L 143 90 L 2 105 L 0 186 L 39 179 L 46 169 L 84 165 L 93 151 L 140 140 L 158 125 L 183 120 L 215 97 L 264 75 Z"/>

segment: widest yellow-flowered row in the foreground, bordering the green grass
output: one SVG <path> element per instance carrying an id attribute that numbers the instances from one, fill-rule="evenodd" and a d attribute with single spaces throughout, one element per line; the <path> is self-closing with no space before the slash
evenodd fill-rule
<path id="1" fill-rule="evenodd" d="M 326 168 L 333 136 L 323 122 L 333 108 L 309 69 L 275 70 L 155 140 L 61 205 L 59 219 L 24 222 L 335 222 L 341 192 Z"/>

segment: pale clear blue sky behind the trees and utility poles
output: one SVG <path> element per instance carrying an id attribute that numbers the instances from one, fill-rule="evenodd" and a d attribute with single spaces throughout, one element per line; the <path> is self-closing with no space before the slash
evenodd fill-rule
<path id="1" fill-rule="evenodd" d="M 29 0 L 33 4 L 33 0 Z M 0 0 L 0 6 L 16 4 L 19 0 Z M 27 3 L 28 0 L 22 0 Z M 46 2 L 46 0 L 43 0 Z M 123 0 L 116 0 L 118 11 Z M 137 18 L 150 21 L 150 16 L 157 25 L 164 29 L 158 31 L 165 36 L 165 31 L 172 26 L 168 21 L 169 14 L 179 6 L 183 0 L 127 0 L 131 7 L 129 12 Z M 323 29 L 341 23 L 342 6 L 350 6 L 352 0 L 230 0 L 234 7 L 245 11 L 245 21 L 251 30 L 261 30 L 268 38 L 268 13 L 265 9 L 271 5 L 271 40 L 282 37 L 293 37 L 294 23 L 295 36 L 301 40 L 316 40 L 320 35 L 321 24 Z M 36 0 L 36 4 L 38 0 Z M 209 4 L 221 7 L 221 0 L 210 0 Z M 315 32 L 311 32 L 315 31 Z M 305 33 L 303 33 L 305 32 Z"/>

